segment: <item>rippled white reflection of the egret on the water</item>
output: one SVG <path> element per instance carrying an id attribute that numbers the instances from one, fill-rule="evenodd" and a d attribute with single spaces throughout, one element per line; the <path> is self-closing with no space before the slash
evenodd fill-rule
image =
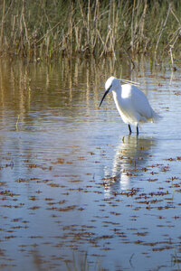
<path id="1" fill-rule="evenodd" d="M 105 196 L 130 189 L 131 178 L 137 178 L 146 166 L 156 145 L 153 137 L 124 136 L 116 150 L 111 172 L 105 172 Z"/>

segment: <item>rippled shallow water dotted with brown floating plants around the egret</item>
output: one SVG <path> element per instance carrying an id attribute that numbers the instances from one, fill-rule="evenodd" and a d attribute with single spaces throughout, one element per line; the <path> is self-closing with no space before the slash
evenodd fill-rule
<path id="1" fill-rule="evenodd" d="M 0 61 L 1 269 L 179 270 L 180 72 L 136 64 Z M 162 117 L 138 137 L 98 108 L 110 74 Z"/>

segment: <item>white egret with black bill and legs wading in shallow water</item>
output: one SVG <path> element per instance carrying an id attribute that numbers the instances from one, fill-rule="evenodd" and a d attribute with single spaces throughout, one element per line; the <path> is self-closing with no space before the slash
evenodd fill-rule
<path id="1" fill-rule="evenodd" d="M 137 126 L 138 135 L 139 124 L 155 122 L 160 118 L 150 106 L 146 95 L 136 86 L 129 83 L 121 84 L 121 79 L 111 76 L 105 83 L 105 93 L 100 106 L 110 92 L 113 94 L 120 117 L 129 126 L 129 135 L 132 133 L 132 125 Z"/>

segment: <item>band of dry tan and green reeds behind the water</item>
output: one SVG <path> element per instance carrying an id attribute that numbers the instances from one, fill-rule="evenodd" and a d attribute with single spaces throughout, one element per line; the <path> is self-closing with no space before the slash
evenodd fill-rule
<path id="1" fill-rule="evenodd" d="M 180 56 L 181 1 L 2 0 L 0 53 L 30 59 Z"/>

